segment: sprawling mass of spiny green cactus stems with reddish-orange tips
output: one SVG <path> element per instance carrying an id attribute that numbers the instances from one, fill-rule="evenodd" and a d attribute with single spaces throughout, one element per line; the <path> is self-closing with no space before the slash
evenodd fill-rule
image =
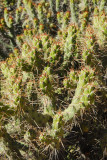
<path id="1" fill-rule="evenodd" d="M 11 51 L 0 62 L 0 137 L 7 158 L 58 159 L 75 119 L 105 99 L 105 3 L 2 2 L 0 33 Z"/>

